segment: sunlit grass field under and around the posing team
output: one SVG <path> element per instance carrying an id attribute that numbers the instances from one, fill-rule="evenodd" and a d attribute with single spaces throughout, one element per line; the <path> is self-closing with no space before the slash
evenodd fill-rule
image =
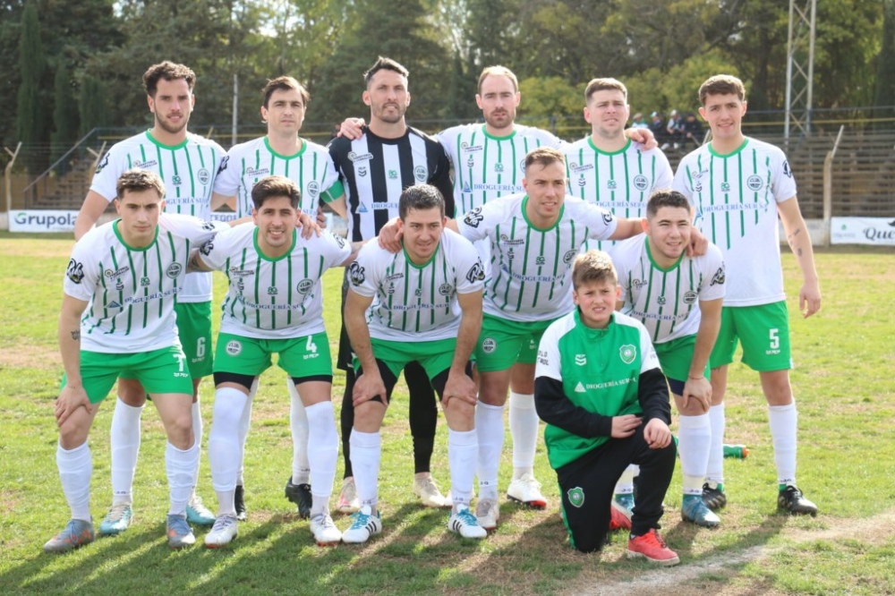
<path id="1" fill-rule="evenodd" d="M 751 449 L 727 460 L 729 506 L 710 531 L 680 522 L 679 469 L 666 498 L 664 536 L 681 565 L 653 569 L 625 558 L 617 536 L 600 555 L 567 546 L 555 476 L 539 448 L 537 475 L 551 505 L 533 512 L 501 504 L 501 524 L 484 541 L 447 532 L 447 514 L 418 507 L 405 393 L 383 430 L 380 503 L 385 532 L 362 547 L 313 545 L 307 522 L 283 497 L 291 470 L 285 375 L 262 378 L 246 447 L 249 521 L 226 549 L 167 548 L 164 434 L 143 414 L 135 480 L 135 522 L 116 538 L 64 556 L 41 552 L 68 520 L 55 467 L 53 404 L 62 366 L 56 349 L 61 281 L 72 242 L 60 236 L 0 234 L 0 586 L 11 593 L 720 594 L 895 593 L 895 256 L 892 251 L 821 251 L 823 310 L 792 318 L 799 409 L 798 479 L 821 509 L 816 518 L 776 514 L 776 473 L 757 376 L 731 367 L 727 442 Z M 784 255 L 788 295 L 795 260 Z M 325 279 L 330 338 L 337 338 L 340 273 Z M 223 277 L 216 293 L 223 295 Z M 790 298 L 790 311 L 797 305 Z M 335 345 L 334 345 L 335 353 Z M 333 393 L 340 404 L 343 379 Z M 403 385 L 399 385 L 403 387 Z M 213 387 L 202 386 L 206 439 Z M 91 510 L 110 500 L 108 428 L 101 408 L 90 438 Z M 501 487 L 510 472 L 510 441 Z M 447 432 L 439 421 L 434 475 L 447 490 Z M 341 476 L 341 462 L 340 462 Z M 337 483 L 338 484 L 338 483 Z M 335 488 L 338 490 L 338 486 Z M 200 495 L 212 510 L 203 448 Z M 345 529 L 348 521 L 337 517 Z M 198 530 L 202 540 L 205 530 Z"/>

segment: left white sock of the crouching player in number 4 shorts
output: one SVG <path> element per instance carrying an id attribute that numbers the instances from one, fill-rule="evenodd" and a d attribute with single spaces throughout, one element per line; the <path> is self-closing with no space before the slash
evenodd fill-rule
<path id="1" fill-rule="evenodd" d="M 209 432 L 209 465 L 211 484 L 217 493 L 217 515 L 236 515 L 236 476 L 243 462 L 239 430 L 247 402 L 248 396 L 239 389 L 224 387 L 215 391 L 215 410 Z"/>

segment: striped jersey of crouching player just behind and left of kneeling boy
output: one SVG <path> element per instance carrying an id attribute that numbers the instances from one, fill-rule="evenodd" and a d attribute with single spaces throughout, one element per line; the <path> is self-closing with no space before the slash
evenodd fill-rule
<path id="1" fill-rule="evenodd" d="M 527 194 L 490 200 L 457 219 L 460 234 L 490 241 L 484 312 L 515 321 L 556 319 L 574 307 L 572 262 L 584 241 L 606 240 L 618 221 L 609 211 L 567 196 L 549 229 L 525 216 Z"/>

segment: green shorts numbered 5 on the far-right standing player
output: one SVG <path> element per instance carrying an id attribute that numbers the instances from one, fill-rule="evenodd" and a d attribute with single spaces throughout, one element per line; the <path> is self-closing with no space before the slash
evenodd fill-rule
<path id="1" fill-rule="evenodd" d="M 718 341 L 709 359 L 712 368 L 733 362 L 737 340 L 743 344 L 743 363 L 750 369 L 760 372 L 791 369 L 786 301 L 723 307 Z"/>

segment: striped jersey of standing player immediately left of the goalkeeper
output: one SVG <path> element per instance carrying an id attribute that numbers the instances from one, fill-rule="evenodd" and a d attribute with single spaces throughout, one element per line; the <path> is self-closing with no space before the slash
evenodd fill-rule
<path id="1" fill-rule="evenodd" d="M 250 140 L 234 145 L 227 151 L 215 180 L 215 192 L 227 197 L 236 196 L 236 217 L 251 215 L 251 188 L 265 176 L 285 176 L 298 185 L 302 192 L 300 209 L 317 216 L 320 199 L 336 200 L 345 194 L 338 180 L 327 148 L 302 139 L 302 149 L 291 156 L 283 156 L 270 148 L 268 138 Z"/>

